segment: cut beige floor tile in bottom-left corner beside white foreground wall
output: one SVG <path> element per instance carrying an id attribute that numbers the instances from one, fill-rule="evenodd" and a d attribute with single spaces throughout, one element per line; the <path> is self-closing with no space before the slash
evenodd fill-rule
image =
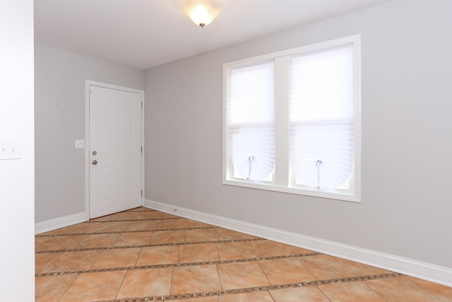
<path id="1" fill-rule="evenodd" d="M 36 302 L 57 302 L 77 279 L 77 274 L 37 277 L 35 281 Z M 19 300 L 18 300 L 19 301 Z"/>

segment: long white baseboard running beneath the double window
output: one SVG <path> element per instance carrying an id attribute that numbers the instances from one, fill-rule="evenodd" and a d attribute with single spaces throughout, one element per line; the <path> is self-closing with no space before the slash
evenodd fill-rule
<path id="1" fill-rule="evenodd" d="M 229 228 L 231 230 L 247 233 L 249 235 L 275 240 L 289 245 L 295 245 L 299 248 L 307 248 L 309 250 L 323 252 L 327 255 L 333 255 L 335 257 L 387 269 L 392 272 L 398 272 L 400 274 L 406 274 L 408 276 L 433 281 L 446 286 L 452 286 L 452 269 L 449 267 L 440 267 L 438 265 L 411 260 L 405 257 L 358 248 L 352 245 L 335 243 L 333 241 L 304 236 L 298 233 L 278 230 L 276 228 L 259 226 L 253 223 L 228 219 L 222 216 L 193 211 L 191 209 L 175 207 L 171 204 L 163 204 L 161 202 L 155 202 L 148 199 L 145 199 L 143 206 L 177 216 L 182 216 L 188 219 L 209 223 L 214 226 Z"/>

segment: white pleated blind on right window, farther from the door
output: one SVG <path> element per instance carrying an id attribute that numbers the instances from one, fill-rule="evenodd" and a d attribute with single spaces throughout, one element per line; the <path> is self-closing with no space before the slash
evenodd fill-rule
<path id="1" fill-rule="evenodd" d="M 292 57 L 290 167 L 295 185 L 349 190 L 354 164 L 353 45 Z"/>

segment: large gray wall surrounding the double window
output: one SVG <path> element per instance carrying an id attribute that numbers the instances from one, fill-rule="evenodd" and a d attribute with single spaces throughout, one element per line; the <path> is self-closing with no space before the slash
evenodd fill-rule
<path id="1" fill-rule="evenodd" d="M 397 0 L 145 71 L 146 199 L 452 267 L 450 0 Z M 222 64 L 362 35 L 362 202 L 222 185 Z"/>

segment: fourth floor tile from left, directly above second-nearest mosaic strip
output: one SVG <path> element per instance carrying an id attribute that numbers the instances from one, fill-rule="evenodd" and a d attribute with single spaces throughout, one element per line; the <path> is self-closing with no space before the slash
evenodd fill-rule
<path id="1" fill-rule="evenodd" d="M 141 248 L 136 266 L 166 265 L 179 262 L 179 246 L 150 246 Z"/>

